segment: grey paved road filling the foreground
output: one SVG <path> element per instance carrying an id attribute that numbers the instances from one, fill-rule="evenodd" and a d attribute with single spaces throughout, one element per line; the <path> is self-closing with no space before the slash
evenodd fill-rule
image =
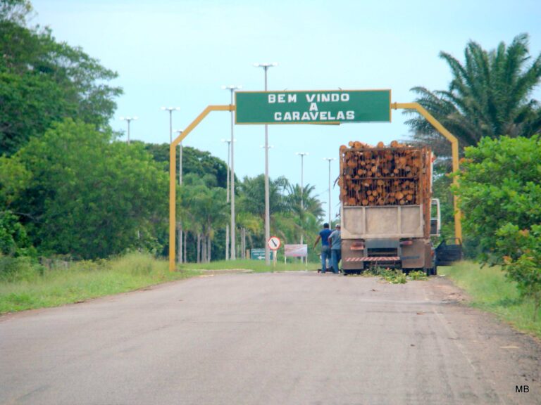
<path id="1" fill-rule="evenodd" d="M 443 278 L 228 274 L 8 315 L 0 404 L 541 403 L 541 345 L 461 300 Z"/>

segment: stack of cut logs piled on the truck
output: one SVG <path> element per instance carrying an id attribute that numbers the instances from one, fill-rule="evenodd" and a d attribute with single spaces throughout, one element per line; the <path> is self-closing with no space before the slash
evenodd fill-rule
<path id="1" fill-rule="evenodd" d="M 427 153 L 397 141 L 340 146 L 340 199 L 347 206 L 421 204 Z"/>

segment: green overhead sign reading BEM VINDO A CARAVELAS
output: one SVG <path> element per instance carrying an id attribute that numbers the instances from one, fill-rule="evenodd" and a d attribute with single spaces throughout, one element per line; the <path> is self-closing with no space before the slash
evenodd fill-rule
<path id="1" fill-rule="evenodd" d="M 390 90 L 237 91 L 237 124 L 391 122 Z"/>

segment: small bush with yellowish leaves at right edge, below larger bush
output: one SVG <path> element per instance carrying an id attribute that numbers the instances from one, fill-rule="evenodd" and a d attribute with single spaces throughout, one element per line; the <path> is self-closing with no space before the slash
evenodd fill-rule
<path id="1" fill-rule="evenodd" d="M 534 321 L 541 307 L 541 225 L 519 229 L 506 224 L 497 231 L 497 248 L 502 267 L 517 285 L 522 297 L 534 302 Z"/>

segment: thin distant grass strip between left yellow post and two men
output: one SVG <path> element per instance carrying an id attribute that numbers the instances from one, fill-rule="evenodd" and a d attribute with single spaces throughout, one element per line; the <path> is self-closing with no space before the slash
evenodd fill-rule
<path id="1" fill-rule="evenodd" d="M 294 260 L 292 262 L 284 263 L 280 260 L 273 263 L 270 262 L 270 266 L 265 264 L 264 260 L 251 260 L 240 259 L 233 261 L 220 260 L 218 262 L 210 263 L 185 263 L 178 268 L 180 270 L 250 270 L 254 273 L 265 273 L 269 271 L 302 271 L 302 270 L 317 270 L 321 266 L 319 263 L 309 262 L 308 264 L 301 263 L 300 260 Z"/>

